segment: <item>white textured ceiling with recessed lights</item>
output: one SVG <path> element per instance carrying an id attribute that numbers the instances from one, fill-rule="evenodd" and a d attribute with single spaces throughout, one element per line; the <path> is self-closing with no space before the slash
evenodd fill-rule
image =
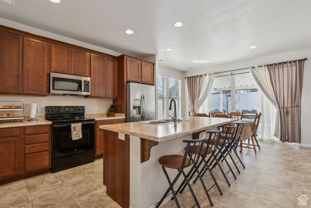
<path id="1" fill-rule="evenodd" d="M 310 11 L 310 0 L 0 2 L 2 18 L 140 58 L 158 54 L 183 71 L 311 48 Z"/>

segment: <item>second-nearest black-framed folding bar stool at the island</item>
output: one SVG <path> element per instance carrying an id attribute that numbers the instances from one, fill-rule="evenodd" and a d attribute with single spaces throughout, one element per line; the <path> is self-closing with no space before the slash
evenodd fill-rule
<path id="1" fill-rule="evenodd" d="M 213 173 L 211 172 L 211 170 L 210 170 L 210 168 L 208 167 L 207 164 L 208 164 L 208 162 L 211 160 L 211 158 L 214 157 L 214 154 L 215 154 L 215 152 L 216 152 L 216 150 L 217 150 L 217 146 L 218 146 L 218 143 L 219 143 L 219 139 L 220 139 L 220 134 L 221 134 L 221 132 L 222 132 L 222 128 L 220 128 L 218 131 L 207 131 L 207 132 L 206 132 L 207 134 L 209 134 L 209 137 L 208 137 L 208 139 L 206 139 L 206 140 L 204 141 L 204 143 L 206 143 L 207 146 L 203 146 L 203 147 L 202 147 L 202 151 L 201 151 L 201 153 L 200 153 L 200 156 L 202 157 L 202 159 L 200 160 L 200 162 L 198 162 L 198 164 L 197 164 L 197 169 L 196 169 L 196 170 L 193 170 L 192 172 L 189 171 L 188 174 L 187 174 L 188 180 L 190 180 L 190 179 L 192 179 L 193 177 L 196 177 L 196 176 L 194 176 L 194 174 L 197 173 L 197 177 L 200 179 L 200 181 L 201 181 L 201 183 L 202 183 L 202 186 L 203 186 L 203 188 L 204 188 L 204 191 L 205 191 L 205 193 L 206 193 L 206 196 L 207 196 L 208 201 L 210 202 L 211 206 L 213 206 L 213 203 L 212 203 L 211 198 L 210 198 L 210 196 L 209 196 L 209 194 L 208 194 L 208 191 L 211 190 L 211 188 L 213 188 L 213 187 L 216 185 L 216 187 L 217 187 L 217 189 L 218 189 L 220 195 L 222 195 L 222 192 L 221 192 L 221 190 L 220 190 L 220 188 L 219 188 L 219 186 L 218 186 L 218 183 L 217 183 L 217 181 L 216 181 L 216 179 L 215 179 Z M 188 150 L 188 155 L 189 155 L 189 157 L 190 157 L 190 153 L 191 153 L 191 149 L 192 149 L 192 148 L 196 148 L 196 146 L 190 146 L 190 148 L 189 148 L 189 150 Z M 199 154 L 199 153 L 196 152 L 195 154 Z M 209 156 L 208 159 L 206 160 L 207 155 L 210 155 L 210 156 Z M 190 157 L 190 159 L 192 159 L 192 158 Z M 193 160 L 193 159 L 192 159 L 192 160 Z M 205 184 L 204 184 L 204 182 L 203 182 L 203 180 L 202 180 L 202 177 L 201 177 L 201 175 L 200 175 L 200 173 L 199 173 L 199 170 L 198 170 L 199 167 L 202 165 L 203 162 L 205 163 L 205 166 L 207 167 L 207 170 L 209 171 L 209 173 L 210 173 L 210 175 L 211 175 L 211 177 L 212 177 L 212 179 L 214 180 L 214 183 L 215 183 L 215 184 L 212 185 L 211 188 L 209 188 L 208 190 L 207 190 L 207 188 L 205 187 Z M 189 176 L 190 176 L 190 177 L 189 177 Z M 187 184 L 185 183 L 185 181 L 183 181 L 183 183 L 182 183 L 182 184 L 179 186 L 179 188 L 177 189 L 176 193 L 178 193 L 179 190 L 180 190 L 179 193 L 182 193 L 183 190 L 186 188 L 186 186 L 187 186 Z"/>

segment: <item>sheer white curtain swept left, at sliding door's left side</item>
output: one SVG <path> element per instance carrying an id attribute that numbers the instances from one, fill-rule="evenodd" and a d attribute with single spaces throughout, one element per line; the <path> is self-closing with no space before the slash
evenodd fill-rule
<path id="1" fill-rule="evenodd" d="M 211 104 L 211 95 L 210 94 L 211 94 L 211 88 L 212 88 L 214 79 L 215 79 L 214 73 L 203 75 L 202 87 L 201 87 L 201 91 L 200 91 L 200 95 L 199 95 L 199 102 L 197 104 L 197 113 L 201 112 L 201 113 L 207 113 L 208 114 L 209 111 L 207 111 L 207 110 L 211 109 L 211 108 L 209 108 L 209 106 L 206 106 L 206 101 L 210 100 L 210 102 L 208 102 L 208 103 Z M 209 97 L 209 99 L 208 99 L 208 97 Z M 204 108 L 204 111 L 202 111 L 203 108 Z"/>

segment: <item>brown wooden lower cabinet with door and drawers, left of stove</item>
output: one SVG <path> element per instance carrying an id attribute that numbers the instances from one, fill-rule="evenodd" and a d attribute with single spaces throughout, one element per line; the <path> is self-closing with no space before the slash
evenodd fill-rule
<path id="1" fill-rule="evenodd" d="M 48 172 L 51 125 L 0 129 L 0 185 Z"/>

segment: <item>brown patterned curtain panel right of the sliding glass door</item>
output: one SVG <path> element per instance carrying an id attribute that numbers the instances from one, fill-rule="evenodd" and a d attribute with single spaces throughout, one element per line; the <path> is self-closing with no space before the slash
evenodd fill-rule
<path id="1" fill-rule="evenodd" d="M 267 64 L 281 119 L 281 142 L 300 143 L 304 60 Z"/>

